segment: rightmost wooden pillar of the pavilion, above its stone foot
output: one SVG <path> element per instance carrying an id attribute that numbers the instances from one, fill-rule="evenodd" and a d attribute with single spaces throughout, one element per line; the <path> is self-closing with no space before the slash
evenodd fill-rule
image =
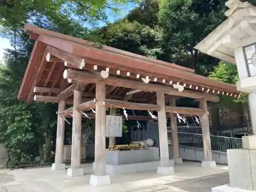
<path id="1" fill-rule="evenodd" d="M 201 115 L 204 160 L 212 161 L 211 144 L 210 144 L 210 127 L 209 127 L 209 119 L 208 119 L 207 101 L 205 98 L 200 100 L 200 108 L 205 110 L 205 113 Z"/>

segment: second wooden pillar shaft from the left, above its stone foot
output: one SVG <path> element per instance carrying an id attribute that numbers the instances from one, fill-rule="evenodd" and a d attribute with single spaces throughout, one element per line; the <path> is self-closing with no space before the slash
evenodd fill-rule
<path id="1" fill-rule="evenodd" d="M 71 168 L 79 168 L 81 162 L 81 129 L 82 114 L 76 110 L 76 106 L 81 104 L 82 92 L 74 91 L 73 104 L 73 124 L 72 124 L 72 147 L 71 147 Z"/>

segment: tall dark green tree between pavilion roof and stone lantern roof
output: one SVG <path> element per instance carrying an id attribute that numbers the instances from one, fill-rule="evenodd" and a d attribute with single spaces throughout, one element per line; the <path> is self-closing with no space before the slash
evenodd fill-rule
<path id="1" fill-rule="evenodd" d="M 207 56 L 194 47 L 224 20 L 226 0 L 162 0 L 159 25 L 163 28 L 163 60 L 194 68 L 208 75 L 219 59 Z M 256 1 L 250 3 L 255 4 Z"/>

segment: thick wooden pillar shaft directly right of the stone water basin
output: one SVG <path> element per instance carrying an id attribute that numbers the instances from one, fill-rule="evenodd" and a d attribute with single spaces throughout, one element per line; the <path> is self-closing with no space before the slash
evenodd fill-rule
<path id="1" fill-rule="evenodd" d="M 167 139 L 164 92 L 157 92 L 157 104 L 160 105 L 162 108 L 157 113 L 161 167 L 169 167 L 169 147 L 168 147 L 168 139 Z"/>

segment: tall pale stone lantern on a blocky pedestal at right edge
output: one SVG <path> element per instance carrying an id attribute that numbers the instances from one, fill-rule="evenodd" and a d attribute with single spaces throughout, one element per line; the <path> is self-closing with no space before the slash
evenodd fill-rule
<path id="1" fill-rule="evenodd" d="M 227 151 L 230 184 L 212 191 L 256 191 L 256 7 L 239 0 L 225 5 L 227 19 L 195 49 L 237 65 L 237 89 L 249 93 L 253 135 L 243 137 L 243 149 Z"/>

